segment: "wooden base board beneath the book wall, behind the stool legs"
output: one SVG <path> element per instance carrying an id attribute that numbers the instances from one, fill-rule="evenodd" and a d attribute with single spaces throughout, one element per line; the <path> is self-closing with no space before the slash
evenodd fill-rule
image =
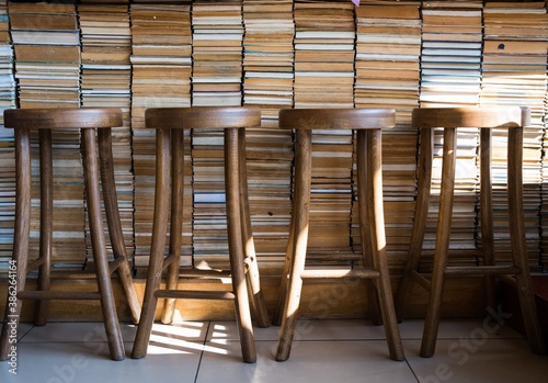
<path id="1" fill-rule="evenodd" d="M 279 297 L 279 275 L 277 270 L 267 273 L 261 270 L 261 286 L 263 288 L 266 306 L 274 313 Z M 266 275 L 265 275 L 266 274 Z M 145 279 L 137 278 L 135 286 L 139 300 L 145 293 Z M 398 286 L 399 277 L 392 277 L 392 291 Z M 30 280 L 30 290 L 36 286 L 36 281 Z M 95 282 L 54 280 L 52 290 L 66 290 L 71 286 L 76 291 L 93 291 Z M 442 318 L 484 318 L 486 312 L 484 282 L 482 278 L 464 277 L 447 278 L 445 283 Z M 161 289 L 164 284 L 161 285 Z M 198 281 L 182 279 L 179 288 L 183 290 L 220 290 L 229 291 L 230 283 L 222 281 Z M 113 280 L 116 308 L 121 322 L 132 324 L 132 313 L 126 303 L 124 292 L 117 280 Z M 8 284 L 0 283 L 0 294 L 8 293 Z M 156 320 L 161 320 L 164 300 L 160 298 L 156 308 Z M 33 322 L 34 302 L 24 305 L 21 314 L 22 322 Z M 406 317 L 424 318 L 426 311 L 427 293 L 421 288 L 414 288 L 410 296 Z M 0 314 L 4 311 L 5 302 L 0 301 Z M 52 322 L 101 322 L 99 304 L 93 301 L 53 301 L 49 305 L 49 320 Z M 369 304 L 365 282 L 349 285 L 338 280 L 308 280 L 302 286 L 302 298 L 299 307 L 299 319 L 340 319 L 364 318 L 370 320 Z M 178 300 L 175 304 L 175 320 L 235 320 L 233 303 L 231 301 L 199 301 Z"/>

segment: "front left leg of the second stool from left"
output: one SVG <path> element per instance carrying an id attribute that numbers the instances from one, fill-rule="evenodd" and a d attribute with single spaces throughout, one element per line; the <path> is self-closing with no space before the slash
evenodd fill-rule
<path id="1" fill-rule="evenodd" d="M 163 251 L 169 216 L 169 173 L 170 173 L 170 131 L 156 131 L 156 189 L 155 217 L 152 224 L 152 243 L 148 262 L 147 284 L 142 298 L 139 327 L 135 336 L 132 358 L 140 359 L 147 356 L 150 333 L 155 323 L 157 298 L 155 291 L 160 288 L 163 268 Z"/>

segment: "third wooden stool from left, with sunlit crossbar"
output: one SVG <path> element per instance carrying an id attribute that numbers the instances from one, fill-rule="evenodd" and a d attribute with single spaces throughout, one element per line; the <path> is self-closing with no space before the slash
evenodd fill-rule
<path id="1" fill-rule="evenodd" d="M 361 278 L 368 284 L 372 306 L 380 304 L 390 358 L 403 360 L 390 275 L 386 258 L 383 207 L 381 128 L 393 127 L 393 109 L 294 109 L 279 111 L 279 127 L 296 131 L 295 180 L 289 241 L 282 274 L 277 323 L 282 322 L 276 360 L 289 358 L 297 323 L 302 279 Z M 357 199 L 362 236 L 363 268 L 353 270 L 305 270 L 312 173 L 312 129 L 355 129 Z M 311 251 L 309 251 L 311 255 Z M 343 257 L 338 251 L 335 257 Z M 353 256 L 353 255 L 351 255 Z M 378 301 L 378 303 L 377 303 Z"/>

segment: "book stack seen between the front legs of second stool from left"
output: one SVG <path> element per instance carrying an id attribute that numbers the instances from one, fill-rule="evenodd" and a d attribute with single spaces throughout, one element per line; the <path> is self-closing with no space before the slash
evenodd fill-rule
<path id="1" fill-rule="evenodd" d="M 241 1 L 196 1 L 192 7 L 193 106 L 242 103 Z M 193 247 L 198 267 L 228 266 L 221 131 L 192 135 Z M 207 263 L 207 264 L 206 264 Z"/>

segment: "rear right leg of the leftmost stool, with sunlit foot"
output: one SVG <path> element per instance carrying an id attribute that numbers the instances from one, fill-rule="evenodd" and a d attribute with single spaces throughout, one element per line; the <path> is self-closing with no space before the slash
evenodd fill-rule
<path id="1" fill-rule="evenodd" d="M 139 322 L 140 303 L 132 277 L 132 268 L 127 260 L 127 250 L 124 244 L 124 233 L 118 211 L 118 200 L 114 178 L 114 160 L 112 155 L 111 128 L 98 129 L 99 159 L 101 167 L 101 184 L 103 188 L 103 201 L 105 205 L 106 224 L 109 235 L 118 267 L 116 269 L 126 302 L 132 313 L 134 324 Z"/>

